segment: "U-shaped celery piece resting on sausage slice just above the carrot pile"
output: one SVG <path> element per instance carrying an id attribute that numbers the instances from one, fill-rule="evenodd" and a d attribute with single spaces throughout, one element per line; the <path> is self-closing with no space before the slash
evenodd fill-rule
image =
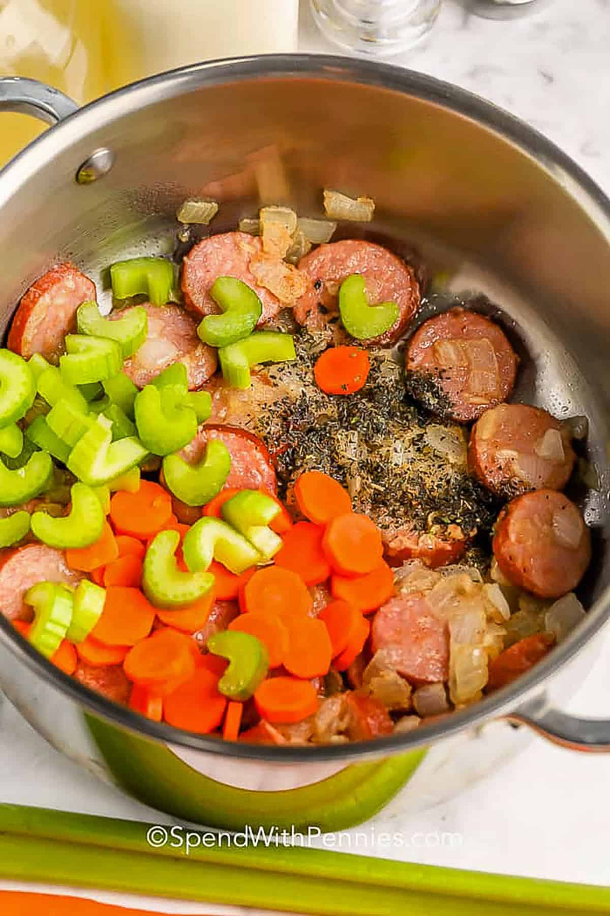
<path id="1" fill-rule="evenodd" d="M 230 453 L 218 439 L 206 446 L 203 460 L 189 464 L 179 454 L 166 455 L 163 474 L 174 496 L 187 506 L 205 506 L 222 489 L 230 472 Z"/>

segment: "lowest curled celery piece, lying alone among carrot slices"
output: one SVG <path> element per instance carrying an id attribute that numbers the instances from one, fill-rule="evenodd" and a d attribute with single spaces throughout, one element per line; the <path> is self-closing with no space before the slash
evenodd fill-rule
<path id="1" fill-rule="evenodd" d="M 269 652 L 264 643 L 241 630 L 221 630 L 208 639 L 213 655 L 229 659 L 218 689 L 220 693 L 244 703 L 250 700 L 269 671 Z"/>

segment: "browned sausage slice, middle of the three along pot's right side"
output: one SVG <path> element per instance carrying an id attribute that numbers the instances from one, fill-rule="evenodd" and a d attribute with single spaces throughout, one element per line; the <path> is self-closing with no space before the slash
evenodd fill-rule
<path id="1" fill-rule="evenodd" d="M 528 404 L 498 404 L 476 420 L 468 468 L 492 493 L 561 490 L 575 461 L 568 427 Z"/>

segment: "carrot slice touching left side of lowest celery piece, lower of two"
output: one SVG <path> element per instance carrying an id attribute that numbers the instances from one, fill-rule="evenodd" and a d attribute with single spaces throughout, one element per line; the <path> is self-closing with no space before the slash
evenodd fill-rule
<path id="1" fill-rule="evenodd" d="M 227 698 L 217 689 L 218 678 L 205 668 L 198 668 L 191 677 L 166 696 L 163 714 L 169 725 L 187 732 L 207 735 L 218 728 L 227 708 Z"/>

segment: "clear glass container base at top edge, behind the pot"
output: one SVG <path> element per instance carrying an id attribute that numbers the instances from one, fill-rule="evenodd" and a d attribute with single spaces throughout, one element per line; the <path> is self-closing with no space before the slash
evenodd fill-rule
<path id="1" fill-rule="evenodd" d="M 352 53 L 390 57 L 412 48 L 433 27 L 441 0 L 310 0 L 317 26 Z"/>

